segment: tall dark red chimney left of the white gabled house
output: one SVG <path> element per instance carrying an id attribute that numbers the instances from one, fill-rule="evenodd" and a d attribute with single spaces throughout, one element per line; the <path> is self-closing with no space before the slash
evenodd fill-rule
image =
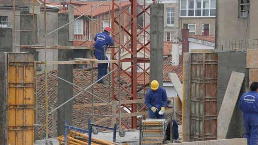
<path id="1" fill-rule="evenodd" d="M 182 29 L 182 57 L 184 56 L 184 52 L 189 52 L 189 29 L 188 24 L 183 24 Z"/>

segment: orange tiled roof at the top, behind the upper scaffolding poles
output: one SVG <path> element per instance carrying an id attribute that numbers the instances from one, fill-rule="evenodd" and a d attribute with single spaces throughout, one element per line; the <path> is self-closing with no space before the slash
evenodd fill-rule
<path id="1" fill-rule="evenodd" d="M 88 4 L 87 5 L 81 5 L 81 6 L 77 6 L 76 8 L 79 10 L 79 11 L 81 11 L 82 13 L 86 13 L 87 11 L 89 11 L 88 13 L 86 13 L 86 15 L 88 15 L 88 16 L 90 16 L 91 15 L 91 13 L 92 13 L 92 16 L 93 17 L 95 17 L 95 16 L 97 16 L 97 15 L 100 15 L 100 14 L 103 14 L 103 13 L 107 13 L 109 10 L 111 10 L 112 8 L 112 5 L 111 5 L 111 3 L 109 3 L 109 1 L 106 1 L 106 2 L 104 2 L 104 1 L 92 1 L 92 8 L 94 8 L 95 6 L 97 6 L 97 5 L 100 5 L 100 6 L 98 6 L 98 7 L 96 7 L 96 8 L 94 8 L 93 10 L 92 10 L 92 12 L 91 11 L 89 11 L 90 9 L 91 9 L 91 4 L 88 2 Z M 103 3 L 103 4 L 102 4 Z M 117 5 L 119 5 L 119 2 L 118 1 L 116 1 L 115 2 Z M 107 6 L 107 5 L 109 5 L 109 7 Z M 121 1 L 121 6 L 122 7 L 124 7 L 124 6 L 129 6 L 130 5 L 130 2 L 129 1 Z M 117 6 L 115 6 L 115 9 L 118 9 L 118 7 Z M 76 9 L 74 9 L 74 16 L 80 16 L 81 15 L 81 13 L 79 12 L 79 11 L 77 11 Z M 67 9 L 60 9 L 60 13 L 67 13 L 68 12 L 68 10 Z"/>

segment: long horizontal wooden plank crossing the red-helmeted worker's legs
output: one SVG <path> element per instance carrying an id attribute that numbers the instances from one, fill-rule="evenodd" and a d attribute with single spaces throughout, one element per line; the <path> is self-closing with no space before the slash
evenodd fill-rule
<path id="1" fill-rule="evenodd" d="M 35 61 L 36 64 L 44 64 L 44 61 Z M 97 60 L 95 62 L 82 62 L 82 61 L 47 61 L 47 64 L 105 64 L 105 63 L 118 63 L 118 60 Z"/>

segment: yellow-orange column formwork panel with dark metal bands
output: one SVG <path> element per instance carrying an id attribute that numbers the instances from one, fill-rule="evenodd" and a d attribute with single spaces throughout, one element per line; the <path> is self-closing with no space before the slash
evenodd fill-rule
<path id="1" fill-rule="evenodd" d="M 34 54 L 8 54 L 8 144 L 33 145 Z"/>

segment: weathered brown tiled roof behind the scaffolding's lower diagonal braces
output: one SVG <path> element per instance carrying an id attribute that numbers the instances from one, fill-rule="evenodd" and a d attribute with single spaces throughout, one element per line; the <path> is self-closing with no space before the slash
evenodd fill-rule
<path id="1" fill-rule="evenodd" d="M 51 71 L 50 73 L 57 75 L 57 71 Z M 97 69 L 94 69 L 94 81 L 97 79 Z M 48 106 L 49 110 L 52 110 L 51 108 L 57 107 L 57 78 L 54 76 L 48 74 Z M 108 89 L 108 78 L 105 79 L 106 85 L 96 84 L 94 85 L 94 94 L 101 97 L 102 99 L 108 101 L 109 100 L 109 89 Z M 110 80 L 111 82 L 111 80 Z M 77 84 L 78 86 L 81 86 L 83 88 L 86 88 L 91 84 L 91 69 L 74 69 L 73 70 L 73 83 Z M 111 85 L 111 83 L 110 83 Z M 115 86 L 115 93 L 118 93 L 118 86 Z M 111 89 L 111 88 L 110 88 Z M 130 88 L 129 88 L 130 90 Z M 73 94 L 76 95 L 82 91 L 80 88 L 73 87 Z M 91 89 L 89 89 L 91 91 Z M 112 95 L 112 94 L 111 94 Z M 37 96 L 38 96 L 38 124 L 45 124 L 45 81 L 44 81 L 44 75 L 38 75 L 37 76 Z M 138 98 L 144 98 L 144 94 L 138 93 Z M 131 97 L 128 93 L 121 90 L 121 100 L 130 100 Z M 94 102 L 103 102 L 102 100 L 98 98 L 94 98 Z M 91 104 L 92 103 L 92 95 L 89 93 L 82 93 L 78 95 L 73 100 L 73 105 L 81 105 L 81 104 Z M 138 104 L 138 108 L 141 108 L 143 105 Z M 101 115 L 109 115 L 109 109 L 107 106 L 99 106 L 94 107 L 95 114 L 101 114 Z M 122 110 L 123 111 L 123 110 Z M 123 112 L 125 113 L 125 112 Z M 73 108 L 73 126 L 75 127 L 84 127 L 87 124 L 87 118 L 92 117 L 92 108 Z M 100 120 L 104 117 L 94 117 L 95 121 Z M 49 115 L 49 137 L 52 135 L 52 115 Z M 106 121 L 101 123 L 101 125 L 110 126 L 111 121 Z M 130 126 L 130 119 L 124 120 L 122 119 L 122 122 L 125 124 L 129 124 Z M 44 138 L 44 127 L 36 127 L 37 129 L 37 135 L 35 136 L 36 139 L 43 139 Z"/>

